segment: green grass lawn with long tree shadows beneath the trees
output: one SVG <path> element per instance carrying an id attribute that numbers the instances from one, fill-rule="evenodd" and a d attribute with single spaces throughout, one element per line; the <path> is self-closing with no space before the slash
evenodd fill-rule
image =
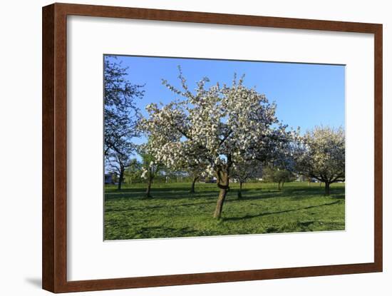
<path id="1" fill-rule="evenodd" d="M 212 218 L 216 184 L 153 184 L 153 198 L 144 198 L 145 184 L 105 187 L 105 240 L 178 238 L 205 235 L 291 233 L 344 230 L 344 183 L 331 185 L 331 195 L 317 183 L 247 183 L 242 199 L 230 185 L 222 218 Z"/>

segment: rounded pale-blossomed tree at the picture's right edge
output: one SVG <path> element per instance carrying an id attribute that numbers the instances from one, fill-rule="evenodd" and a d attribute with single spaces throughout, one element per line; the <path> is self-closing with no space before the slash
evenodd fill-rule
<path id="1" fill-rule="evenodd" d="M 296 165 L 299 173 L 330 185 L 345 180 L 345 136 L 343 128 L 316 127 L 298 144 Z"/>

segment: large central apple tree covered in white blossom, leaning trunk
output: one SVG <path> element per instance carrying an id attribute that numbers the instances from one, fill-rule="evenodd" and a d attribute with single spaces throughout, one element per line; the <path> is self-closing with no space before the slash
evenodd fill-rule
<path id="1" fill-rule="evenodd" d="M 206 170 L 217 178 L 220 193 L 214 217 L 220 218 L 236 163 L 272 158 L 290 136 L 279 123 L 276 106 L 255 88 L 244 86 L 243 77 L 231 85 L 207 88 L 208 78 L 191 91 L 180 70 L 181 88 L 163 84 L 176 98 L 166 105 L 146 107 L 148 117 L 140 126 L 148 134 L 151 152 L 167 168 L 180 163 L 207 163 Z"/>

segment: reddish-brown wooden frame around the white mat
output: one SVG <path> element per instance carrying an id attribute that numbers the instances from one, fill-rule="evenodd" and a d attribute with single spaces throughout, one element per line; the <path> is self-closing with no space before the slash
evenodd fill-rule
<path id="1" fill-rule="evenodd" d="M 323 265 L 315 267 L 68 281 L 66 277 L 66 19 L 68 15 L 374 34 L 374 262 L 349 265 Z M 51 292 L 76 292 L 130 287 L 156 287 L 381 272 L 383 269 L 382 36 L 383 29 L 381 24 L 77 4 L 51 4 L 43 7 L 43 289 Z"/>

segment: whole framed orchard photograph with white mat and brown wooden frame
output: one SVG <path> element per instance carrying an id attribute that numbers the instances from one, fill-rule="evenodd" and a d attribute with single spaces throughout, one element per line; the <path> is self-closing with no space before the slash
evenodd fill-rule
<path id="1" fill-rule="evenodd" d="M 43 7 L 43 289 L 381 272 L 382 25 Z"/>

